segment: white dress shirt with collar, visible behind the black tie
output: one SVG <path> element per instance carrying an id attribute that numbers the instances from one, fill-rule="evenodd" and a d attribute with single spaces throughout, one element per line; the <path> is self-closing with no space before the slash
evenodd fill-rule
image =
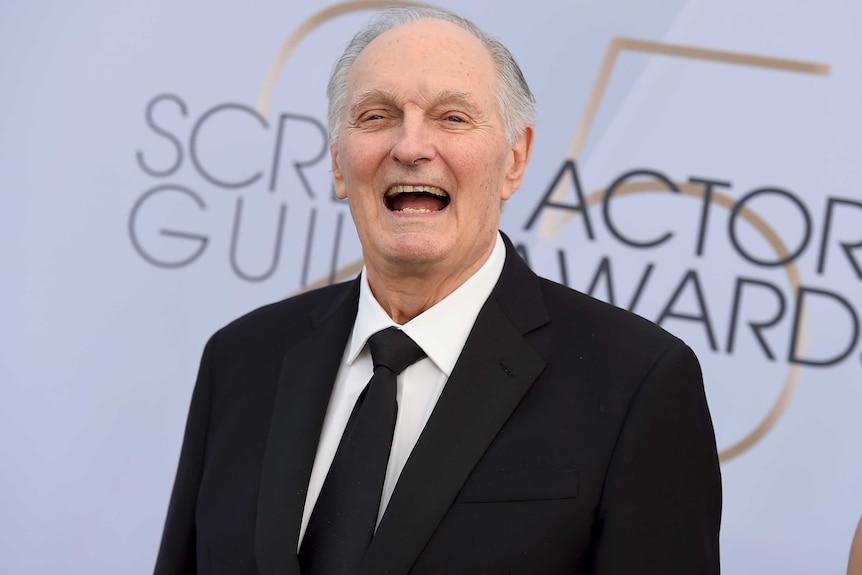
<path id="1" fill-rule="evenodd" d="M 482 309 L 500 277 L 505 260 L 506 247 L 498 233 L 491 256 L 475 274 L 446 298 L 403 326 L 396 324 L 374 299 L 363 269 L 356 321 L 344 350 L 344 356 L 341 358 L 341 366 L 329 398 L 329 407 L 323 421 L 317 455 L 314 458 L 308 492 L 305 496 L 302 526 L 299 532 L 300 543 L 305 536 L 308 519 L 320 495 L 329 466 L 335 458 L 335 451 L 338 449 L 344 428 L 347 427 L 347 420 L 350 418 L 356 399 L 368 384 L 374 371 L 371 352 L 365 345 L 368 338 L 382 329 L 396 326 L 419 344 L 427 355 L 398 376 L 396 392 L 398 419 L 395 422 L 392 451 L 389 454 L 380 511 L 377 515 L 379 523 L 395 489 L 395 483 L 401 475 L 401 470 L 431 416 L 437 399 L 443 392 L 443 387 L 473 329 L 479 310 Z"/>

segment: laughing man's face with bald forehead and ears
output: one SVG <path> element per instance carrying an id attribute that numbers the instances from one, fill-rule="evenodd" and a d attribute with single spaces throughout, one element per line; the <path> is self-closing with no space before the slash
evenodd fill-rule
<path id="1" fill-rule="evenodd" d="M 389 30 L 356 59 L 331 152 L 372 273 L 457 285 L 490 255 L 532 144 L 532 129 L 506 143 L 497 87 L 481 41 L 440 20 Z"/>

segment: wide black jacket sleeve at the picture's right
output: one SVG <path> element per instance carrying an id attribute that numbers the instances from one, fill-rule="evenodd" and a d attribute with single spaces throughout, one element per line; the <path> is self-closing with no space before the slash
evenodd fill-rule
<path id="1" fill-rule="evenodd" d="M 721 475 L 700 365 L 682 343 L 636 391 L 598 510 L 596 575 L 718 575 Z"/>

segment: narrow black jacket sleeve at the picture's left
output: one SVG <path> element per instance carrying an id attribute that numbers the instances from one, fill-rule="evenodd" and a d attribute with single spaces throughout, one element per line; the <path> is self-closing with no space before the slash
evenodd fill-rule
<path id="1" fill-rule="evenodd" d="M 193 575 L 196 569 L 195 509 L 206 455 L 215 336 L 204 349 L 186 421 L 174 489 L 168 506 L 155 575 Z"/>

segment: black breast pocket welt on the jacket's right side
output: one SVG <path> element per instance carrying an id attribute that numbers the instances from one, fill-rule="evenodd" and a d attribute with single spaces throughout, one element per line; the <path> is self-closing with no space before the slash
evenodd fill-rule
<path id="1" fill-rule="evenodd" d="M 577 497 L 577 469 L 500 471 L 470 475 L 455 502 L 542 501 Z"/>

